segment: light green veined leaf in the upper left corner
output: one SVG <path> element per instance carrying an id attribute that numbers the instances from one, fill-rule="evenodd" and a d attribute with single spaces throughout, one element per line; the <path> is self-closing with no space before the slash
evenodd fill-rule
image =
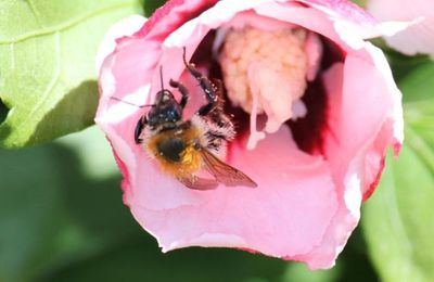
<path id="1" fill-rule="evenodd" d="M 0 2 L 0 145 L 46 142 L 93 123 L 97 49 L 139 0 Z"/>

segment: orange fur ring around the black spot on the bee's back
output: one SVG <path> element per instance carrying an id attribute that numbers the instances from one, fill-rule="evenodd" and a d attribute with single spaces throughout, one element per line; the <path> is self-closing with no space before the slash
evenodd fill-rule
<path id="1" fill-rule="evenodd" d="M 193 126 L 187 129 L 168 130 L 150 137 L 144 148 L 157 161 L 164 172 L 175 177 L 189 177 L 202 167 L 201 153 L 194 148 L 194 144 L 200 142 L 201 136 L 201 130 Z M 157 150 L 158 143 L 173 138 L 179 138 L 187 144 L 180 154 L 180 162 L 167 159 Z"/>

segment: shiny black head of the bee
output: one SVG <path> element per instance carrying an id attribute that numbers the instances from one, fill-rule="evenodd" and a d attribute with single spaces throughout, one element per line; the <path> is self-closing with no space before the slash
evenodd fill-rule
<path id="1" fill-rule="evenodd" d="M 176 123 L 182 118 L 182 108 L 174 94 L 163 89 L 156 93 L 155 103 L 148 113 L 148 124 L 152 128 L 162 124 Z"/>

